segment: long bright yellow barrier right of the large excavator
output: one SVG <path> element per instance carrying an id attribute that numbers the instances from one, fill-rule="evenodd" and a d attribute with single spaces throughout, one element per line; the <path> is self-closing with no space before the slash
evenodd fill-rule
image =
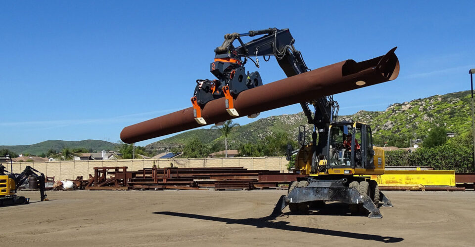
<path id="1" fill-rule="evenodd" d="M 372 175 L 380 186 L 420 187 L 455 186 L 454 170 L 386 170 L 383 175 Z"/>

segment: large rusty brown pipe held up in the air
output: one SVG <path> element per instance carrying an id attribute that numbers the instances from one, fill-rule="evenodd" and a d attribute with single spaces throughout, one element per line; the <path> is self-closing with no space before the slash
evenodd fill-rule
<path id="1" fill-rule="evenodd" d="M 234 100 L 239 116 L 249 116 L 300 102 L 308 102 L 328 95 L 350 91 L 396 79 L 399 61 L 396 47 L 386 55 L 363 62 L 346 60 L 312 70 L 277 82 L 242 91 Z M 225 98 L 209 101 L 201 110 L 207 124 L 234 119 L 225 108 Z M 187 108 L 158 118 L 125 127 L 120 139 L 134 143 L 163 135 L 196 128 L 193 108 Z"/>

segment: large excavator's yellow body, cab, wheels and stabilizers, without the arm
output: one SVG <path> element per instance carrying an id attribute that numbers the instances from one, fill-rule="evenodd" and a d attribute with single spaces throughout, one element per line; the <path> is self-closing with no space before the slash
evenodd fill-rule
<path id="1" fill-rule="evenodd" d="M 327 201 L 337 201 L 349 204 L 352 214 L 369 213 L 370 218 L 381 218 L 380 203 L 388 207 L 392 204 L 377 181 L 371 180 L 371 175 L 384 174 L 384 151 L 373 146 L 371 127 L 360 122 L 332 122 L 328 128 L 319 129 L 320 121 L 309 122 L 315 123 L 312 142 L 308 143 L 310 138 L 301 125 L 301 147 L 294 169 L 308 176 L 289 184 L 287 195 L 280 198 L 273 214 L 282 213 L 287 205 L 291 212 L 307 213 L 325 206 Z M 287 147 L 288 160 L 291 149 Z"/>

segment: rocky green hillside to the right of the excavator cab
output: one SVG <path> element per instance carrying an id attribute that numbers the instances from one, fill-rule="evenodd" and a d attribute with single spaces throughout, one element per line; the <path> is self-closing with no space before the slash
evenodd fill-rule
<path id="1" fill-rule="evenodd" d="M 444 126 L 448 132 L 467 132 L 472 126 L 470 91 L 434 95 L 410 102 L 395 103 L 383 112 L 359 111 L 342 116 L 373 126 L 374 135 L 407 135 L 424 137 L 433 126 Z"/>

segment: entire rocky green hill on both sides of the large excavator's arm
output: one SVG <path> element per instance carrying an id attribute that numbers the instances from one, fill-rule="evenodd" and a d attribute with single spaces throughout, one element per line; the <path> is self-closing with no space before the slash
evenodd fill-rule
<path id="1" fill-rule="evenodd" d="M 434 95 L 410 102 L 394 103 L 385 111 L 358 111 L 352 115 L 339 116 L 339 121 L 360 121 L 370 124 L 373 137 L 380 143 L 391 138 L 423 138 L 435 125 L 444 126 L 448 132 L 458 134 L 470 131 L 472 124 L 470 91 Z M 285 131 L 289 136 L 297 136 L 298 126 L 306 125 L 307 130 L 312 126 L 307 124 L 303 112 L 284 114 L 257 120 L 237 128 L 231 138 L 231 144 L 255 143 L 277 131 Z M 221 142 L 220 133 L 215 129 L 195 129 L 173 137 L 151 143 L 146 150 L 170 150 L 183 146 L 193 138 L 199 138 L 203 143 Z"/>

